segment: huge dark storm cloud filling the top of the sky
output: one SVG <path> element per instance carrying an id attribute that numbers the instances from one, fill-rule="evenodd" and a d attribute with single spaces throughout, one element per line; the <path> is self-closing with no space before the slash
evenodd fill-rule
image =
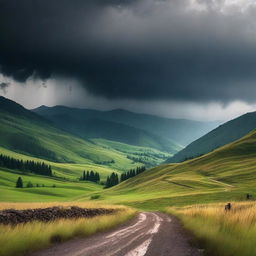
<path id="1" fill-rule="evenodd" d="M 1 71 L 109 98 L 250 101 L 255 16 L 250 0 L 0 0 Z"/>

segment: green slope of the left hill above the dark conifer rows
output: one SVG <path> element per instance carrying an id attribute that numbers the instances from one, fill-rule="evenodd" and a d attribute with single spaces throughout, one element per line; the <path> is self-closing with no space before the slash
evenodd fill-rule
<path id="1" fill-rule="evenodd" d="M 149 148 L 120 143 L 122 148 L 126 149 L 123 152 L 121 147 L 106 146 L 111 144 L 110 141 L 104 140 L 103 143 L 81 139 L 55 128 L 51 123 L 28 110 L 23 109 L 23 112 L 25 114 L 17 115 L 0 110 L 0 153 L 6 153 L 5 149 L 8 149 L 7 153 L 10 156 L 20 153 L 26 155 L 26 159 L 36 157 L 59 163 L 59 165 L 55 164 L 56 171 L 64 175 L 68 173 L 72 176 L 74 172 L 77 175 L 77 171 L 81 172 L 84 168 L 94 168 L 106 177 L 113 170 L 122 172 L 142 165 L 140 162 L 128 159 L 126 151 L 130 155 L 150 152 L 148 159 L 150 166 L 159 164 L 162 155 L 165 156 L 164 159 L 170 156 L 158 150 L 150 151 Z M 113 142 L 112 145 L 118 143 Z M 17 154 L 16 156 L 20 157 Z"/>

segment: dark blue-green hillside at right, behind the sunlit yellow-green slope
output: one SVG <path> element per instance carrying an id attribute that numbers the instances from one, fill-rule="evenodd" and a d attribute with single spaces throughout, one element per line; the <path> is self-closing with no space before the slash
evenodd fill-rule
<path id="1" fill-rule="evenodd" d="M 182 162 L 231 143 L 245 136 L 256 127 L 256 112 L 247 113 L 231 120 L 200 139 L 192 142 L 183 150 L 167 160 L 169 163 Z"/>

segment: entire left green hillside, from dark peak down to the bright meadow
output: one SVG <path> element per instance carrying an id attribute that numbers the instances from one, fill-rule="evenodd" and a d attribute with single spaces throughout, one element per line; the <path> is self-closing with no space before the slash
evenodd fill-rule
<path id="1" fill-rule="evenodd" d="M 155 166 L 170 156 L 152 148 L 79 138 L 4 97 L 0 97 L 0 154 L 19 160 L 44 161 L 51 165 L 54 174 L 42 177 L 1 168 L 0 201 L 74 199 L 102 190 L 102 186 L 78 181 L 84 170 L 99 172 L 104 181 L 113 171 Z M 45 187 L 17 190 L 14 187 L 18 176 Z M 57 187 L 51 187 L 53 184 Z"/>

